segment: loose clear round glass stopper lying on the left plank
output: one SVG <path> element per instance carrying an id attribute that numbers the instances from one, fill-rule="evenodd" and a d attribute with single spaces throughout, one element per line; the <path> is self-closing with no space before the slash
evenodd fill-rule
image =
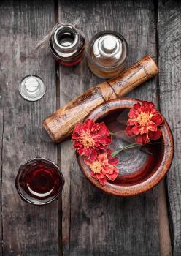
<path id="1" fill-rule="evenodd" d="M 42 79 L 37 75 L 27 75 L 20 82 L 20 95 L 29 101 L 41 99 L 45 94 L 46 87 Z"/>

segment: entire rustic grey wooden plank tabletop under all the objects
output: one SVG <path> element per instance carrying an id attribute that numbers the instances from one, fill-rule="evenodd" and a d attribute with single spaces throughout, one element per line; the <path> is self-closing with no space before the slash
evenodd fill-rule
<path id="1" fill-rule="evenodd" d="M 88 183 L 66 140 L 54 145 L 43 118 L 100 81 L 86 59 L 73 68 L 55 64 L 50 50 L 34 46 L 55 23 L 75 23 L 88 40 L 103 29 L 120 31 L 129 45 L 128 65 L 146 53 L 158 62 L 158 78 L 128 96 L 155 102 L 172 127 L 174 162 L 166 182 L 131 198 L 105 195 Z M 181 255 L 181 2 L 180 1 L 1 1 L 0 133 L 3 256 Z M 47 86 L 45 97 L 28 102 L 18 85 L 29 74 Z M 31 206 L 20 200 L 18 167 L 37 155 L 61 166 L 62 200 Z M 169 218 L 168 218 L 169 216 Z"/>

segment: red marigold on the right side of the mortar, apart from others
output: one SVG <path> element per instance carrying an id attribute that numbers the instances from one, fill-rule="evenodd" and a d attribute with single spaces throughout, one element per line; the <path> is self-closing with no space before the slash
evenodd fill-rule
<path id="1" fill-rule="evenodd" d="M 152 102 L 134 104 L 128 116 L 126 133 L 135 136 L 136 143 L 145 145 L 161 137 L 161 129 L 158 127 L 163 124 L 163 118 Z"/>

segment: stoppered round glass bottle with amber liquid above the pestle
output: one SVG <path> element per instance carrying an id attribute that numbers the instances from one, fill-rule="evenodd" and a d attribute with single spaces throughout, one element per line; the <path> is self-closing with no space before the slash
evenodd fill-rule
<path id="1" fill-rule="evenodd" d="M 128 43 L 115 31 L 101 31 L 88 45 L 88 66 L 99 78 L 112 78 L 126 67 Z"/>

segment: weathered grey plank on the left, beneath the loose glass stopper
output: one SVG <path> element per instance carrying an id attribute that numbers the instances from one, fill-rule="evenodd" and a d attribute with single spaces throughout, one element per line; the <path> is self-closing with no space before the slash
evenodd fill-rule
<path id="1" fill-rule="evenodd" d="M 0 23 L 3 255 L 57 256 L 58 203 L 31 206 L 20 200 L 14 185 L 27 159 L 39 155 L 57 161 L 56 147 L 42 129 L 43 118 L 56 107 L 55 61 L 47 50 L 33 53 L 37 40 L 54 26 L 54 1 L 1 1 Z M 47 86 L 38 102 L 18 94 L 20 80 L 29 74 L 39 75 Z"/>

